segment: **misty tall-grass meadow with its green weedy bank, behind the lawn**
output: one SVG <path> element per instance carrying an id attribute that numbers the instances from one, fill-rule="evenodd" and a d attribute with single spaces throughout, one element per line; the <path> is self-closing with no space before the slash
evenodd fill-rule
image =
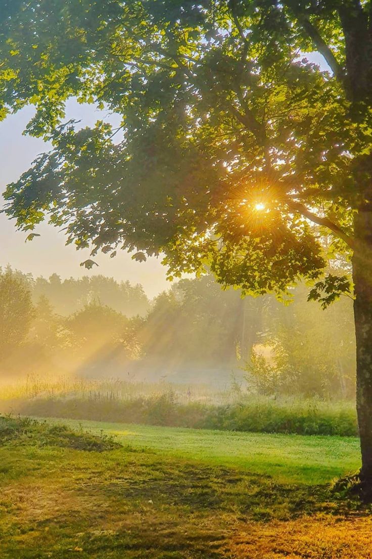
<path id="1" fill-rule="evenodd" d="M 3 384 L 0 411 L 253 433 L 340 437 L 358 433 L 352 400 L 259 396 L 235 379 L 216 389 L 136 379 L 27 377 Z"/>

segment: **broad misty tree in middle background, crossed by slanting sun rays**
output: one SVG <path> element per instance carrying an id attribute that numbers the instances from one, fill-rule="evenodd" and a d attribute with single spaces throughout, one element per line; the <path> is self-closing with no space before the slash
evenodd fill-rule
<path id="1" fill-rule="evenodd" d="M 221 291 L 211 275 L 183 279 L 153 301 L 141 328 L 143 352 L 153 366 L 194 372 L 237 366 L 250 355 L 262 328 L 262 299 Z M 198 376 L 200 375 L 200 370 Z"/>

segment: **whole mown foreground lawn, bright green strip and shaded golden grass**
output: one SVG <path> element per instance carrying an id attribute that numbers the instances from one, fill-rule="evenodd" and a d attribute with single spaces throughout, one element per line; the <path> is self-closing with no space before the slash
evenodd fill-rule
<path id="1" fill-rule="evenodd" d="M 372 557 L 354 438 L 68 423 L 3 430 L 1 559 Z"/>

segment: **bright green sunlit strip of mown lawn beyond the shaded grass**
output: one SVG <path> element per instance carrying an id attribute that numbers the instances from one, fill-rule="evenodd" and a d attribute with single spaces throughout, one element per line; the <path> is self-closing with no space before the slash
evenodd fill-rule
<path id="1" fill-rule="evenodd" d="M 354 437 L 238 433 L 66 419 L 49 421 L 71 427 L 82 425 L 93 433 L 114 434 L 120 443 L 134 448 L 149 448 L 169 457 L 211 466 L 239 468 L 271 476 L 281 483 L 323 484 L 360 467 L 359 440 Z"/>

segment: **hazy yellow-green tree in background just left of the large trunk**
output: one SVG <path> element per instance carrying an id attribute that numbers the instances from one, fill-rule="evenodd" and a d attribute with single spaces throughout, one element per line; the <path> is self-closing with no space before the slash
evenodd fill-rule
<path id="1" fill-rule="evenodd" d="M 280 372 L 279 389 L 289 395 L 350 399 L 355 394 L 352 300 L 342 297 L 322 310 L 316 302 L 306 305 L 307 292 L 301 284 L 291 305 L 270 297 L 265 309 L 262 342 Z M 277 388 L 271 387 L 272 394 Z"/>

